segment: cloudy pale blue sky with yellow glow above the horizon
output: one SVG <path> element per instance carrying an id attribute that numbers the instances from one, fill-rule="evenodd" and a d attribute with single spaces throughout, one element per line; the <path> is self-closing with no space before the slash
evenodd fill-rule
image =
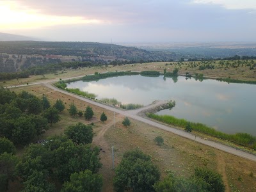
<path id="1" fill-rule="evenodd" d="M 86 42 L 256 42 L 256 0 L 0 0 L 0 32 Z"/>

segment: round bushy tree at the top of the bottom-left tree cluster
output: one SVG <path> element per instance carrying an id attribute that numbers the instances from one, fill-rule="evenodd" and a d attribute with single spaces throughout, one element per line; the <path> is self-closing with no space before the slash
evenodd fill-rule
<path id="1" fill-rule="evenodd" d="M 77 145 L 92 143 L 93 130 L 91 125 L 78 123 L 65 129 L 65 135 Z"/>

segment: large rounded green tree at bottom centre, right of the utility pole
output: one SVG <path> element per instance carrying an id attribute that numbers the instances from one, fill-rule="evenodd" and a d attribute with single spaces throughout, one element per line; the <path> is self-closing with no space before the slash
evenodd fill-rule
<path id="1" fill-rule="evenodd" d="M 136 149 L 124 154 L 115 169 L 113 186 L 116 191 L 153 191 L 159 178 L 159 169 L 152 164 L 150 156 Z"/>

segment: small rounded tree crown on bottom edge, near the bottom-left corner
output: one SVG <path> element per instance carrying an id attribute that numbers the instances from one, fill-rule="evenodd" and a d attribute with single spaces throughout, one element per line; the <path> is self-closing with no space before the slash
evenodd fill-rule
<path id="1" fill-rule="evenodd" d="M 31 175 L 29 175 L 28 180 L 26 180 L 23 184 L 24 192 L 56 191 L 55 186 L 47 180 L 47 177 L 43 172 L 34 171 Z"/>

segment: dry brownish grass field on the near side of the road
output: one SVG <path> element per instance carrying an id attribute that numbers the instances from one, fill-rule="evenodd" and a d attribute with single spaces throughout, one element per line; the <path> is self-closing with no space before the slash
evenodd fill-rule
<path id="1" fill-rule="evenodd" d="M 78 116 L 72 118 L 67 111 L 71 102 L 74 102 L 77 109 L 82 111 L 85 110 L 88 104 L 60 92 L 52 91 L 45 86 L 28 86 L 13 90 L 15 92 L 26 90 L 38 97 L 42 97 L 45 94 L 51 104 L 56 99 L 61 99 L 65 103 L 65 110 L 61 113 L 61 121 L 52 125 L 51 129 L 45 132 L 40 139 L 54 134 L 61 134 L 68 125 L 76 124 L 77 122 L 83 122 L 84 124 L 94 123 L 93 131 L 95 136 L 93 144 L 101 148 L 100 157 L 103 166 L 100 169 L 100 173 L 104 178 L 103 191 L 113 190 L 112 178 L 114 173 L 112 170 L 111 146 L 115 148 L 115 166 L 120 162 L 125 151 L 138 147 L 152 156 L 153 162 L 161 170 L 161 177 L 165 177 L 168 173 L 189 176 L 196 166 L 207 166 L 223 175 L 227 191 L 256 191 L 256 163 L 253 161 L 227 154 L 132 119 L 131 126 L 126 128 L 122 125 L 124 116 L 121 115 L 115 116 L 114 127 L 113 112 L 97 106 L 92 106 L 95 116 L 90 121 Z M 100 122 L 100 114 L 103 111 L 108 116 L 108 120 L 105 123 Z M 159 147 L 154 143 L 156 136 L 164 138 L 163 146 Z M 18 152 L 21 155 L 22 148 L 19 148 Z M 10 191 L 18 191 L 20 189 L 19 184 L 16 182 L 11 186 Z"/>

